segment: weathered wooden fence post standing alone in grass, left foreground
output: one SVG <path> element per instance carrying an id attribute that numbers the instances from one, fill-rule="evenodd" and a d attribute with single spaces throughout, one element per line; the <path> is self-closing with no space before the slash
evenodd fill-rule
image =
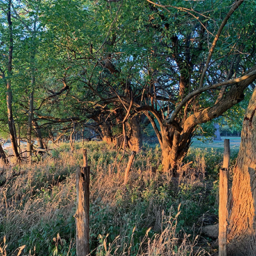
<path id="1" fill-rule="evenodd" d="M 77 210 L 76 210 L 76 255 L 86 256 L 89 248 L 90 166 L 86 149 L 83 149 L 83 167 L 77 168 Z"/>

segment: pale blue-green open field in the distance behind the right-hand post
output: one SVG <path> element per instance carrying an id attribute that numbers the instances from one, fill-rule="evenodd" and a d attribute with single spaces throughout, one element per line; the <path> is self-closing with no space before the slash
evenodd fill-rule
<path id="1" fill-rule="evenodd" d="M 221 137 L 221 141 L 203 142 L 197 138 L 193 139 L 191 147 L 193 148 L 224 148 L 224 140 L 230 140 L 230 150 L 239 150 L 241 138 L 239 137 Z"/>

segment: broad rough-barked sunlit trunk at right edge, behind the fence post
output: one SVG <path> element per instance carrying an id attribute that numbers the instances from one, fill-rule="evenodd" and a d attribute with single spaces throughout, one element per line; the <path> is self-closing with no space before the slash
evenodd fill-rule
<path id="1" fill-rule="evenodd" d="M 243 122 L 230 196 L 228 255 L 256 255 L 256 90 Z"/>

